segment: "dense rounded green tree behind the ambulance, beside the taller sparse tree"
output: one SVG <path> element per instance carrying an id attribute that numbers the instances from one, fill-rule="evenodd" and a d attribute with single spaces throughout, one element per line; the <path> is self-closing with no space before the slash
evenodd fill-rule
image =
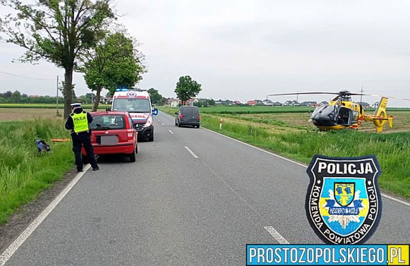
<path id="1" fill-rule="evenodd" d="M 118 87 L 133 87 L 147 72 L 142 63 L 144 55 L 135 49 L 138 45 L 135 38 L 127 36 L 127 31 L 119 27 L 115 32 L 108 32 L 87 54 L 81 72 L 85 73 L 88 87 L 97 92 L 94 112 L 103 88 L 113 95 Z"/>

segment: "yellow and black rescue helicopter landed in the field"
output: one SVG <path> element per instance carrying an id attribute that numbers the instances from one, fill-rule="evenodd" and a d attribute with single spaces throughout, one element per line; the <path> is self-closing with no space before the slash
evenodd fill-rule
<path id="1" fill-rule="evenodd" d="M 282 95 L 303 95 L 303 94 L 333 94 L 337 95 L 329 104 L 323 104 L 316 107 L 312 113 L 309 122 L 312 122 L 320 130 L 330 129 L 359 129 L 362 121 L 371 121 L 376 126 L 377 132 L 383 130 L 383 126 L 388 122 L 390 127 L 393 127 L 393 116 L 387 117 L 386 106 L 388 98 L 395 98 L 401 100 L 409 100 L 398 97 L 386 97 L 373 94 L 354 93 L 349 91 L 340 91 L 338 93 L 327 92 L 306 92 L 306 93 L 282 93 L 270 94 L 268 96 L 282 96 Z M 352 101 L 351 96 L 376 96 L 381 97 L 375 113 L 368 114 L 364 112 L 363 106 Z"/>

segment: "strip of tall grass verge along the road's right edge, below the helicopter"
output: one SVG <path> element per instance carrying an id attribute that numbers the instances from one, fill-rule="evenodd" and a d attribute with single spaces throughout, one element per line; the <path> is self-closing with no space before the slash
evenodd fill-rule
<path id="1" fill-rule="evenodd" d="M 173 116 L 178 110 L 166 107 L 159 109 Z M 223 125 L 220 130 L 221 118 Z M 332 157 L 376 154 L 383 171 L 379 186 L 410 198 L 410 131 L 378 134 L 349 130 L 283 130 L 275 125 L 209 114 L 201 114 L 201 126 L 308 164 L 315 154 Z"/>

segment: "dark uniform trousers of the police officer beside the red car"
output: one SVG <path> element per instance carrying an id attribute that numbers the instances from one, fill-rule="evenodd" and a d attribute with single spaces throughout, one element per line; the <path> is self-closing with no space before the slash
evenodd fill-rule
<path id="1" fill-rule="evenodd" d="M 94 169 L 98 166 L 97 160 L 95 160 L 94 148 L 91 144 L 90 135 L 91 134 L 88 132 L 81 132 L 78 135 L 71 135 L 73 138 L 73 151 L 75 155 L 75 165 L 77 165 L 77 170 L 83 169 L 83 160 L 81 159 L 81 145 L 83 145 L 84 149 L 87 152 L 88 160 L 90 161 L 92 168 Z"/>

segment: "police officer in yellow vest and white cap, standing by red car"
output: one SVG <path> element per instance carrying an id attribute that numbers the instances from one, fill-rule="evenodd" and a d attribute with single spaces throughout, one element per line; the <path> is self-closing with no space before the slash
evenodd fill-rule
<path id="1" fill-rule="evenodd" d="M 67 119 L 66 128 L 71 130 L 77 172 L 83 171 L 81 144 L 87 152 L 88 160 L 90 161 L 93 171 L 96 171 L 99 167 L 94 157 L 94 148 L 91 144 L 91 130 L 89 128 L 89 124 L 93 121 L 93 118 L 89 113 L 83 111 L 81 103 L 72 103 L 71 106 L 73 108 L 73 113 L 71 113 Z"/>

